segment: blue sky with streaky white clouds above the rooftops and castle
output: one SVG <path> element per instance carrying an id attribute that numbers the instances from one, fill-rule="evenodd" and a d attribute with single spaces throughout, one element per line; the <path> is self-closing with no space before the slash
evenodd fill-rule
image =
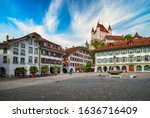
<path id="1" fill-rule="evenodd" d="M 0 42 L 39 33 L 62 47 L 90 43 L 97 22 L 112 34 L 150 36 L 150 0 L 0 0 Z"/>

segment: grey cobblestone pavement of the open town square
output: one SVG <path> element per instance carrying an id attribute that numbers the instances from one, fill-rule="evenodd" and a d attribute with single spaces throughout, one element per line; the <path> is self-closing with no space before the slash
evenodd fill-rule
<path id="1" fill-rule="evenodd" d="M 150 100 L 150 73 L 76 73 L 36 79 L 0 81 L 0 100 Z M 136 75 L 136 78 L 130 78 Z"/>

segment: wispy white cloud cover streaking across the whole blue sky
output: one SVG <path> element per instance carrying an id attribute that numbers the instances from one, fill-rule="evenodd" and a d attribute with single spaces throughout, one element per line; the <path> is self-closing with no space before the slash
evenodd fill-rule
<path id="1" fill-rule="evenodd" d="M 145 11 L 146 6 L 144 5 L 146 4 L 143 4 L 141 8 L 140 2 L 138 5 L 136 3 L 136 0 L 132 1 L 132 4 L 123 4 L 120 0 L 113 2 L 111 0 L 93 0 L 89 5 L 82 1 L 82 8 L 80 8 L 76 1 L 68 2 L 69 13 L 71 15 L 70 31 L 56 34 L 55 32 L 59 24 L 59 10 L 63 5 L 63 1 L 52 0 L 43 18 L 43 24 L 38 25 L 33 19 L 20 21 L 16 18 L 9 18 L 9 20 L 17 26 L 17 31 L 15 31 L 15 28 L 10 24 L 8 24 L 6 28 L 9 30 L 7 31 L 5 29 L 5 31 L 7 31 L 7 34 L 13 31 L 15 36 L 18 36 L 18 34 L 22 36 L 27 33 L 37 32 L 42 37 L 58 43 L 63 47 L 84 45 L 86 40 L 90 42 L 91 28 L 96 27 L 98 21 L 100 21 L 100 23 L 103 22 L 106 27 L 108 27 L 109 23 L 112 25 L 112 28 L 118 26 L 116 30 L 113 30 L 114 34 L 122 35 L 140 31 L 141 33 L 150 35 L 148 33 L 150 29 L 147 28 L 150 22 L 143 23 L 149 19 L 149 14 L 137 17 Z M 137 18 L 131 20 L 135 17 Z M 6 25 L 4 27 L 6 27 Z M 2 28 L 0 28 L 0 30 L 1 29 Z M 17 32 L 19 33 L 17 34 Z M 6 32 L 2 34 L 6 35 Z M 2 34 L 0 37 L 2 37 Z"/>

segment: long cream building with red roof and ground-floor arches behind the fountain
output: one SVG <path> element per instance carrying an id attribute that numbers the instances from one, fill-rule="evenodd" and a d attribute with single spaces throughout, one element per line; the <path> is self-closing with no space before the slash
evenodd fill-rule
<path id="1" fill-rule="evenodd" d="M 108 43 L 95 50 L 95 72 L 150 72 L 150 38 Z"/>

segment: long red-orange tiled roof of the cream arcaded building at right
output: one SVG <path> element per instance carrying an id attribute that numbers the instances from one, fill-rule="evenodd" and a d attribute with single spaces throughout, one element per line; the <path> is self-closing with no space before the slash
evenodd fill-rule
<path id="1" fill-rule="evenodd" d="M 126 48 L 134 48 L 134 47 L 141 47 L 141 46 L 148 46 L 148 45 L 150 45 L 150 37 L 138 38 L 130 41 L 108 43 L 100 48 L 95 49 L 95 51 L 98 52 L 98 51 L 107 51 L 107 50 L 114 50 L 114 49 L 126 49 Z"/>

